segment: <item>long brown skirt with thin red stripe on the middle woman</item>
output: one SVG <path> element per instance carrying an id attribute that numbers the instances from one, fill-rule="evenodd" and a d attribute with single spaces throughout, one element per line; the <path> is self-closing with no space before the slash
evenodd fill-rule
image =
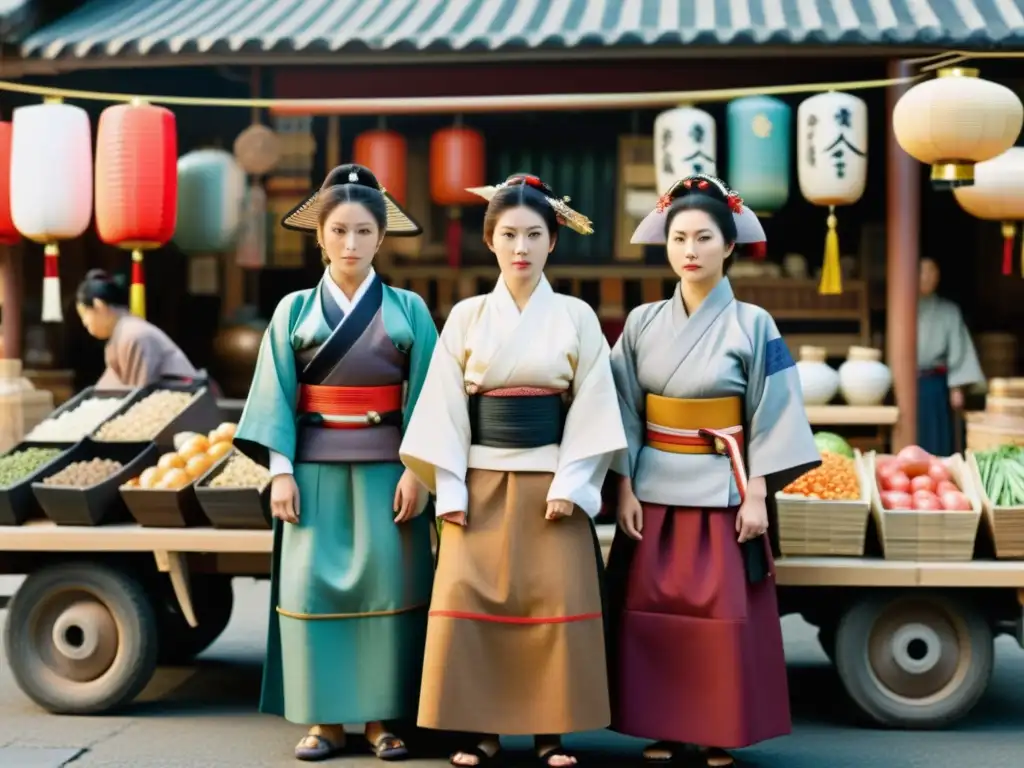
<path id="1" fill-rule="evenodd" d="M 577 508 L 547 520 L 552 475 L 469 470 L 468 524 L 445 524 L 419 725 L 525 735 L 607 727 L 600 560 Z"/>

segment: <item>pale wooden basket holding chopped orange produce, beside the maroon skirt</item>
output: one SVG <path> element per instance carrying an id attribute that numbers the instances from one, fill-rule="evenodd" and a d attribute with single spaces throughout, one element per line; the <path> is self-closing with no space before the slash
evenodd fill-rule
<path id="1" fill-rule="evenodd" d="M 784 557 L 796 555 L 846 555 L 862 557 L 871 514 L 871 482 L 864 457 L 853 452 L 860 480 L 857 501 L 808 499 L 794 494 L 775 494 L 778 512 L 778 546 Z"/>

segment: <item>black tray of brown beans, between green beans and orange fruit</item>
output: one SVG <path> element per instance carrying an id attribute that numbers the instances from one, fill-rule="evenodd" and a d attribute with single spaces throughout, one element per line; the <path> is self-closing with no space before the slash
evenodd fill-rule
<path id="1" fill-rule="evenodd" d="M 49 471 L 32 483 L 32 492 L 46 516 L 57 525 L 102 525 L 130 522 L 131 514 L 119 488 L 142 468 L 156 461 L 152 442 L 96 442 L 85 439 L 63 454 Z M 120 471 L 88 487 L 44 485 L 43 480 L 75 462 L 113 459 L 124 465 Z"/>

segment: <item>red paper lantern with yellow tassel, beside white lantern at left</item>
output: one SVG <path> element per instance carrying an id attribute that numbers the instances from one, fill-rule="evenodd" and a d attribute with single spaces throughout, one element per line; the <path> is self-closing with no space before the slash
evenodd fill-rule
<path id="1" fill-rule="evenodd" d="M 143 251 L 174 237 L 178 206 L 174 114 L 141 102 L 108 106 L 96 129 L 96 233 L 131 251 L 131 311 L 145 316 Z"/>

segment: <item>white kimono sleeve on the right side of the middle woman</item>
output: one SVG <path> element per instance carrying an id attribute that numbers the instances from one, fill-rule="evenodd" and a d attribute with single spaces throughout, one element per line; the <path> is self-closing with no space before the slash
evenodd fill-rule
<path id="1" fill-rule="evenodd" d="M 558 468 L 548 500 L 569 500 L 594 517 L 601 509 L 601 484 L 608 465 L 627 443 L 601 324 L 583 302 L 570 306 L 574 309 L 580 348 L 572 402 L 565 417 Z"/>

